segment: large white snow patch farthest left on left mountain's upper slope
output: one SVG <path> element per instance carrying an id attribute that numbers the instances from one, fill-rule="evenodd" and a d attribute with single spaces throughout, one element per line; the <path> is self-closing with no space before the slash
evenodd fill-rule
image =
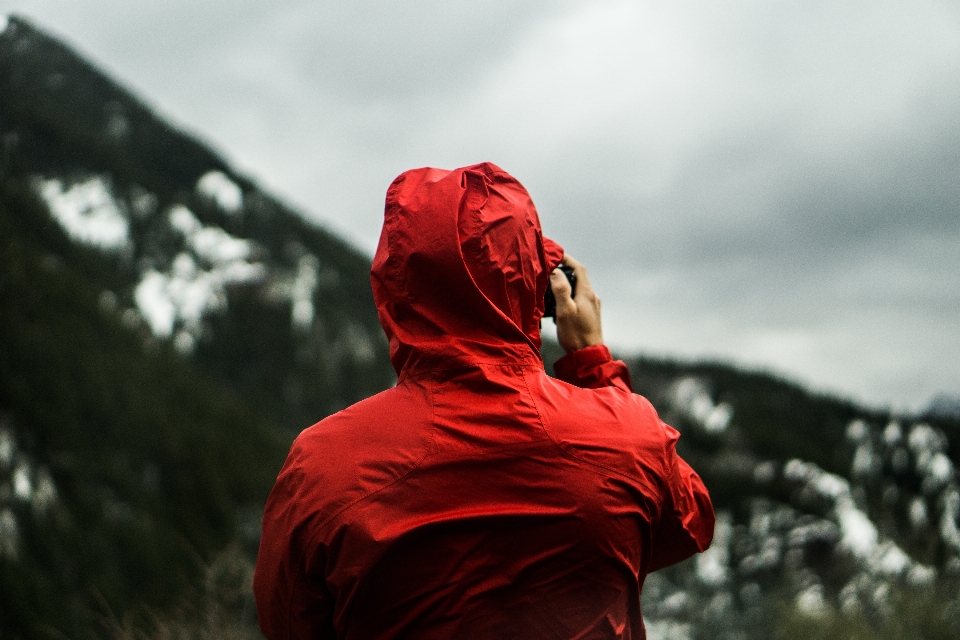
<path id="1" fill-rule="evenodd" d="M 104 178 L 95 176 L 66 190 L 58 178 L 37 179 L 34 187 L 63 230 L 77 242 L 117 250 L 129 241 L 129 224 Z"/>

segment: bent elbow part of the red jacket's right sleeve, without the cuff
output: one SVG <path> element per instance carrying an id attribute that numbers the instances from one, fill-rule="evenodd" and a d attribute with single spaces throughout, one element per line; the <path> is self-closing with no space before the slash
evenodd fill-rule
<path id="1" fill-rule="evenodd" d="M 666 432 L 663 503 L 653 523 L 650 571 L 669 567 L 705 551 L 713 540 L 715 516 L 710 494 L 700 476 L 677 455 L 679 432 L 660 423 Z"/>

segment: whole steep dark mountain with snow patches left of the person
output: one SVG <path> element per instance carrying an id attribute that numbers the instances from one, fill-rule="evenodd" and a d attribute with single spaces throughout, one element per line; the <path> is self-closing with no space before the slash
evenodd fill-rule
<path id="1" fill-rule="evenodd" d="M 0 638 L 81 637 L 254 552 L 293 436 L 394 376 L 367 256 L 16 17 L 0 144 Z"/>

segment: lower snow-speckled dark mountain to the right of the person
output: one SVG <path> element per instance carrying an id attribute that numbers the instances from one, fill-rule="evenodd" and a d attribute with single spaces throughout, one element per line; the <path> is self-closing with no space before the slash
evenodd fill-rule
<path id="1" fill-rule="evenodd" d="M 728 365 L 630 365 L 718 516 L 706 553 L 648 579 L 651 637 L 958 637 L 960 421 Z"/>

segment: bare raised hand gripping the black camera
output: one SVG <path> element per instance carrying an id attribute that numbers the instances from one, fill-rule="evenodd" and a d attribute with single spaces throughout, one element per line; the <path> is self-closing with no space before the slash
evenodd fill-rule
<path id="1" fill-rule="evenodd" d="M 571 258 L 563 257 L 563 264 L 577 274 L 577 295 L 570 297 L 570 283 L 560 269 L 550 274 L 550 288 L 557 299 L 557 340 L 570 353 L 595 344 L 603 344 L 600 322 L 600 298 L 590 285 L 587 268 Z"/>

